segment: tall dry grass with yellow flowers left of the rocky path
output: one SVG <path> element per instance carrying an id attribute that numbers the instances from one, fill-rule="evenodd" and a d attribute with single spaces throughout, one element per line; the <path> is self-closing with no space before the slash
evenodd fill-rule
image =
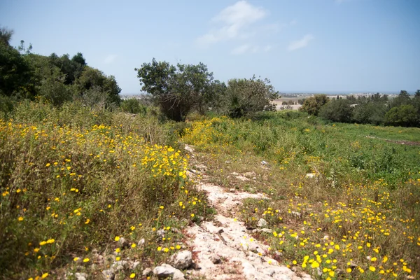
<path id="1" fill-rule="evenodd" d="M 151 116 L 22 102 L 13 120 L 0 120 L 0 274 L 28 279 L 80 266 L 93 274 L 93 248 L 145 265 L 186 248 L 169 229 L 197 222 L 193 214 L 209 207 L 174 145 Z M 131 246 L 120 248 L 116 237 Z"/>

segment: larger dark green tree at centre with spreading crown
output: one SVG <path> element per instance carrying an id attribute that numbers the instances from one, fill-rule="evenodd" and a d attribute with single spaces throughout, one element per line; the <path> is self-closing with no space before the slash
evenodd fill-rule
<path id="1" fill-rule="evenodd" d="M 201 62 L 174 66 L 153 58 L 135 71 L 141 90 L 152 94 L 162 113 L 172 120 L 185 120 L 191 109 L 213 99 L 213 73 Z"/>

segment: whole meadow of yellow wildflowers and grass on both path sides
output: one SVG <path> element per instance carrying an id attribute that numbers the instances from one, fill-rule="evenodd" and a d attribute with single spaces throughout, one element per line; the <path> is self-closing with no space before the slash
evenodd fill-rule
<path id="1" fill-rule="evenodd" d="M 140 265 L 121 276 L 141 279 L 145 267 L 186 248 L 182 229 L 214 214 L 188 178 L 190 144 L 197 160 L 211 162 L 213 183 L 269 197 L 246 200 L 235 218 L 251 228 L 264 218 L 272 233 L 255 238 L 281 264 L 314 279 L 416 279 L 419 141 L 418 128 L 296 111 L 175 123 L 153 109 L 132 116 L 22 102 L 0 120 L 0 275 L 99 276 L 132 258 Z"/>

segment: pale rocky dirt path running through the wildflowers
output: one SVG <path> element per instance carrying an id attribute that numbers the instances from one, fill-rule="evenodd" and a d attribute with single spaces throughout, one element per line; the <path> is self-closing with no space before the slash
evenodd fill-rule
<path id="1" fill-rule="evenodd" d="M 193 147 L 186 146 L 186 150 L 194 155 Z M 187 229 L 195 262 L 200 267 L 193 274 L 207 279 L 311 279 L 307 274 L 298 274 L 279 265 L 267 255 L 268 246 L 253 239 L 244 223 L 236 220 L 235 214 L 241 200 L 248 197 L 265 198 L 264 195 L 226 192 L 219 186 L 203 181 L 198 183 L 198 188 L 208 193 L 209 202 L 218 215 L 214 221 Z"/>

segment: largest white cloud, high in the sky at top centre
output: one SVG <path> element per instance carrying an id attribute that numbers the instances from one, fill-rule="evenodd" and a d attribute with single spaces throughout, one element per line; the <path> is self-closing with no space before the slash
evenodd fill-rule
<path id="1" fill-rule="evenodd" d="M 263 8 L 256 7 L 248 1 L 238 1 L 232 6 L 221 10 L 211 22 L 221 27 L 211 29 L 203 36 L 197 38 L 198 45 L 209 46 L 219 41 L 226 41 L 234 38 L 248 38 L 252 36 L 246 29 L 258 20 L 267 15 Z"/>

